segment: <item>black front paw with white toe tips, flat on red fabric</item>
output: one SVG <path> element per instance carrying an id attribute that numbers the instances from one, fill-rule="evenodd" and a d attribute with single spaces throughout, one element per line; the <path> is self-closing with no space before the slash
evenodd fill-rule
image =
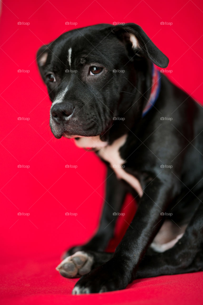
<path id="1" fill-rule="evenodd" d="M 109 260 L 80 278 L 72 294 L 107 292 L 126 288 L 130 278 L 122 266 Z"/>

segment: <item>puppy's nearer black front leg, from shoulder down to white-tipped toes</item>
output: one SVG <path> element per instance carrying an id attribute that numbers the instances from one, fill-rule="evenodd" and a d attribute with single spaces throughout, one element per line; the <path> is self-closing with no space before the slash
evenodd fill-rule
<path id="1" fill-rule="evenodd" d="M 166 178 L 166 177 L 164 177 Z M 168 177 L 167 177 L 168 178 Z M 165 180 L 166 181 L 166 180 Z M 137 212 L 113 257 L 77 282 L 73 294 L 124 289 L 129 284 L 162 223 L 162 212 L 174 196 L 172 183 L 156 178 L 144 189 Z"/>

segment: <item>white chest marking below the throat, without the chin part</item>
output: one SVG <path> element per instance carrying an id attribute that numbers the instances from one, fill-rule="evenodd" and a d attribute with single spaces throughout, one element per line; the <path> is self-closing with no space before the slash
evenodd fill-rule
<path id="1" fill-rule="evenodd" d="M 110 166 L 116 173 L 117 178 L 125 180 L 129 183 L 141 197 L 143 195 L 140 182 L 133 175 L 125 171 L 125 160 L 119 154 L 119 149 L 126 142 L 127 135 L 115 140 L 112 145 L 107 145 L 98 150 L 98 155 L 105 161 L 109 162 Z"/>

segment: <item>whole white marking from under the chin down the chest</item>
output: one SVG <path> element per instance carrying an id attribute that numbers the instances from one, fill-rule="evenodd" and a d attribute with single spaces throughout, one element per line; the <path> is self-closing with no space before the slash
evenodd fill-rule
<path id="1" fill-rule="evenodd" d="M 99 136 L 83 137 L 75 140 L 75 143 L 79 147 L 98 148 L 98 155 L 103 160 L 110 163 L 110 166 L 116 173 L 116 176 L 130 184 L 136 190 L 139 196 L 142 197 L 143 191 L 140 182 L 133 175 L 126 173 L 124 170 L 125 160 L 123 160 L 119 154 L 119 148 L 125 144 L 126 138 L 127 135 L 123 135 L 122 137 L 115 140 L 112 145 L 107 145 L 107 142 L 102 142 Z"/>

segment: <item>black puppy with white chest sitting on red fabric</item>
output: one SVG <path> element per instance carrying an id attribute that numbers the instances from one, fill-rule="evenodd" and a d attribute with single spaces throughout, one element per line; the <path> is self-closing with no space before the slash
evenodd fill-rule
<path id="1" fill-rule="evenodd" d="M 203 270 L 203 109 L 154 64 L 168 58 L 138 25 L 62 34 L 37 53 L 56 138 L 108 166 L 96 235 L 57 267 L 83 275 L 73 293 L 124 289 L 135 278 Z M 105 248 L 127 192 L 138 209 L 115 253 Z"/>

